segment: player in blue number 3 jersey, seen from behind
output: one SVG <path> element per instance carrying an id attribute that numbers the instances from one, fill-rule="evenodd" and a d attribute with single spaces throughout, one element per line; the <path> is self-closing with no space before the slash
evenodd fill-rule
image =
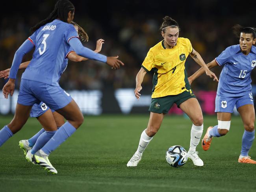
<path id="1" fill-rule="evenodd" d="M 0 146 L 26 123 L 34 103 L 46 103 L 67 120 L 43 148 L 33 155 L 33 162 L 52 174 L 57 174 L 57 170 L 50 163 L 49 154 L 83 123 L 83 115 L 78 105 L 58 84 L 58 74 L 69 47 L 71 46 L 78 55 L 102 61 L 113 69 L 124 65 L 117 59 L 118 56 L 106 57 L 82 45 L 76 29 L 70 24 L 74 18 L 74 9 L 69 0 L 59 0 L 49 17 L 32 28 L 33 34 L 15 53 L 9 80 L 3 88 L 5 98 L 8 98 L 9 94 L 13 95 L 15 78 L 22 58 L 35 47 L 30 65 L 22 74 L 14 118 L 0 130 Z"/>

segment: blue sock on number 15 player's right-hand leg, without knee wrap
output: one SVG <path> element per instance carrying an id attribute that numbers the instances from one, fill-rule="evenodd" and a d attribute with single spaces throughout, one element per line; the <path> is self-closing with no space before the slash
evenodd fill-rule
<path id="1" fill-rule="evenodd" d="M 242 156 L 248 156 L 248 152 L 252 147 L 252 142 L 254 140 L 254 134 L 255 134 L 255 129 L 252 132 L 249 132 L 246 130 L 245 132 L 243 132 L 242 150 L 241 150 Z"/>

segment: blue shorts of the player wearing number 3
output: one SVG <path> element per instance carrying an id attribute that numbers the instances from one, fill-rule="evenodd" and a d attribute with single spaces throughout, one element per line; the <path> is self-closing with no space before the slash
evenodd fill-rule
<path id="1" fill-rule="evenodd" d="M 21 105 L 33 105 L 41 101 L 51 109 L 58 110 L 68 105 L 72 98 L 60 86 L 21 79 L 17 102 Z"/>

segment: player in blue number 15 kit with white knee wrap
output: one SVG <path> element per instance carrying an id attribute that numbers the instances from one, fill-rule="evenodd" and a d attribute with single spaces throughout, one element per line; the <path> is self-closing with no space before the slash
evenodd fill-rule
<path id="1" fill-rule="evenodd" d="M 212 137 L 221 137 L 230 129 L 231 114 L 236 106 L 245 131 L 242 138 L 242 150 L 238 162 L 256 164 L 248 153 L 254 140 L 254 102 L 250 74 L 256 66 L 256 29 L 235 25 L 234 33 L 239 37 L 239 44 L 226 48 L 218 57 L 207 64 L 208 68 L 217 65 L 223 66 L 221 71 L 217 96 L 215 99 L 215 112 L 217 112 L 218 125 L 209 127 L 202 139 L 202 148 L 210 148 Z M 199 69 L 189 77 L 191 83 L 204 70 Z"/>

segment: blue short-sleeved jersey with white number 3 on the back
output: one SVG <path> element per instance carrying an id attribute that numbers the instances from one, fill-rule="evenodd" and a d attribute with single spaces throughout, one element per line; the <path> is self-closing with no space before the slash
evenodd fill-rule
<path id="1" fill-rule="evenodd" d="M 62 38 L 59 38 L 60 35 Z M 58 85 L 60 72 L 63 72 L 63 58 L 70 48 L 68 42 L 72 37 L 78 37 L 74 26 L 58 19 L 36 30 L 29 37 L 35 46 L 33 59 L 22 79 Z"/>

